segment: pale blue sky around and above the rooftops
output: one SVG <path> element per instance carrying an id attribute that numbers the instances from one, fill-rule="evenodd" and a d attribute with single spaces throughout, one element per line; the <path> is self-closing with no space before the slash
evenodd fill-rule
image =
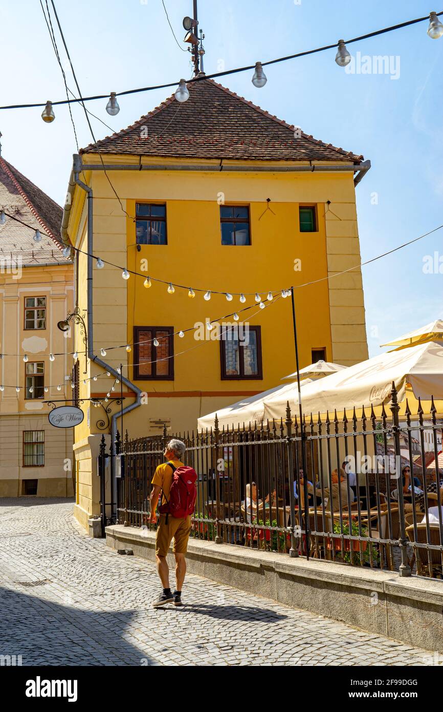
<path id="1" fill-rule="evenodd" d="M 192 2 L 164 1 L 181 43 L 181 21 L 192 14 Z M 161 0 L 57 0 L 56 7 L 83 95 L 191 76 L 189 56 L 176 45 Z M 0 104 L 64 98 L 39 2 L 2 0 L 0 9 Z M 323 46 L 425 16 L 430 9 L 443 8 L 421 0 L 199 0 L 205 70 Z M 393 67 L 400 66 L 395 79 L 389 73 L 346 73 L 333 61 L 335 52 L 327 51 L 267 67 L 262 89 L 252 86 L 250 72 L 222 81 L 314 137 L 371 160 L 357 189 L 363 260 L 443 224 L 443 38 L 431 40 L 426 30 L 424 22 L 349 46 L 353 55 L 392 56 Z M 67 64 L 65 70 L 74 90 Z M 169 90 L 156 90 L 121 98 L 117 117 L 107 115 L 104 100 L 88 108 L 119 130 L 168 95 Z M 55 113 L 56 120 L 46 125 L 41 109 L 1 111 L 0 131 L 4 157 L 61 203 L 76 148 L 68 109 Z M 73 117 L 79 145 L 87 145 L 90 135 L 77 106 Z M 97 120 L 92 125 L 97 138 L 110 133 Z M 442 241 L 443 230 L 363 268 L 370 355 L 391 337 L 443 318 L 443 276 L 438 270 L 423 272 L 425 256 L 443 256 Z"/>

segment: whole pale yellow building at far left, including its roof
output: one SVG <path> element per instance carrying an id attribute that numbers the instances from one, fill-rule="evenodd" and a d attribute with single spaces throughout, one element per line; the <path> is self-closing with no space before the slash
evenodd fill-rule
<path id="1" fill-rule="evenodd" d="M 72 398 L 72 356 L 50 360 L 72 350 L 57 328 L 74 294 L 63 211 L 3 158 L 0 210 L 0 496 L 73 496 L 73 430 L 50 425 L 45 403 Z"/>

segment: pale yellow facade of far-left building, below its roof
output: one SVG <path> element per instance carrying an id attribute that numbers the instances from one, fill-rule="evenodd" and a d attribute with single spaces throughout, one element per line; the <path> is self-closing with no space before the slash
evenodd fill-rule
<path id="1" fill-rule="evenodd" d="M 6 271 L 0 273 L 0 352 L 9 354 L 0 361 L 4 385 L 0 392 L 0 496 L 20 496 L 26 479 L 38 480 L 38 496 L 73 495 L 73 430 L 51 426 L 50 407 L 43 399 L 24 397 L 23 363 L 24 353 L 29 362 L 44 362 L 44 382 L 52 386 L 44 400 L 72 398 L 70 382 L 65 381 L 73 367 L 72 356 L 58 356 L 50 362 L 49 354 L 73 351 L 72 339 L 57 328 L 57 322 L 73 309 L 73 292 L 72 265 L 23 267 L 18 278 Z M 26 296 L 46 296 L 46 329 L 24 329 Z M 14 384 L 21 387 L 19 393 L 8 387 Z M 23 431 L 28 430 L 45 431 L 44 466 L 23 466 Z"/>

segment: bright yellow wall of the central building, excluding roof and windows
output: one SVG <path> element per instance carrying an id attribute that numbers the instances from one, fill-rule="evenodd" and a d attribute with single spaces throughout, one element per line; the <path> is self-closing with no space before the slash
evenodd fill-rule
<path id="1" fill-rule="evenodd" d="M 93 160 L 94 157 L 84 157 L 85 163 Z M 112 162 L 135 163 L 136 159 L 112 157 Z M 147 261 L 144 275 L 194 289 L 247 293 L 294 285 L 301 367 L 311 362 L 311 349 L 319 347 L 326 347 L 327 360 L 343 365 L 368 356 L 360 270 L 329 283 L 325 279 L 360 262 L 352 172 L 111 172 L 112 184 L 129 217 L 102 172 L 86 171 L 85 177 L 94 194 L 95 255 L 134 271 L 144 271 L 142 261 Z M 251 246 L 221 245 L 219 203 L 223 199 L 225 204 L 250 206 Z M 137 251 L 133 220 L 136 201 L 166 202 L 167 246 L 141 246 Z M 319 224 L 315 233 L 300 233 L 299 204 L 317 206 Z M 73 244 L 84 250 L 85 219 L 85 194 L 76 189 L 68 231 Z M 296 260 L 301 261 L 301 271 L 294 271 Z M 186 290 L 176 289 L 174 295 L 169 295 L 166 285 L 153 281 L 152 287 L 146 289 L 143 281 L 134 276 L 124 281 L 119 269 L 107 265 L 102 270 L 94 267 L 95 354 L 100 355 L 100 348 L 105 347 L 107 355 L 103 360 L 107 363 L 117 367 L 120 362 L 129 362 L 129 379 L 133 379 L 134 350 L 128 354 L 124 345 L 132 343 L 134 325 L 185 330 L 197 322 L 204 323 L 206 318 L 217 319 L 255 303 L 253 297 L 248 297 L 245 305 L 238 297 L 228 302 L 223 295 L 213 295 L 206 302 L 201 293 L 191 300 Z M 311 282 L 310 286 L 301 286 Z M 82 256 L 80 308 L 85 307 L 86 258 Z M 192 333 L 186 333 L 183 339 L 176 336 L 174 381 L 137 382 L 147 393 L 147 402 L 124 417 L 124 429 L 131 436 L 156 434 L 161 427 L 154 422 L 166 420 L 172 431 L 191 430 L 199 415 L 245 394 L 279 385 L 284 375 L 295 370 L 290 299 L 275 298 L 269 308 L 254 315 L 256 311 L 250 310 L 252 315 L 248 313 L 247 320 L 262 327 L 262 379 L 222 380 L 219 342 L 196 341 Z M 188 352 L 178 355 L 185 350 Z M 124 368 L 124 375 L 127 374 Z M 101 367 L 90 364 L 87 377 L 93 375 L 97 375 L 97 381 L 82 385 L 82 394 L 104 397 L 113 379 L 104 376 Z M 126 387 L 124 394 L 126 406 L 133 397 Z M 97 445 L 92 445 L 92 438 L 100 437 L 97 422 L 102 417 L 100 408 L 85 403 L 84 409 L 85 421 L 75 430 L 78 456 L 82 459 L 79 506 L 83 518 L 85 512 L 97 508 L 97 499 L 92 495 L 97 479 Z M 112 412 L 116 410 L 116 406 L 112 407 Z"/>

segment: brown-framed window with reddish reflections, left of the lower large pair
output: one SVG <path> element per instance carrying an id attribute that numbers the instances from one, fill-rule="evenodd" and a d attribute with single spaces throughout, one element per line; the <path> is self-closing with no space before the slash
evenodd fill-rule
<path id="1" fill-rule="evenodd" d="M 174 380 L 172 326 L 134 327 L 134 379 Z"/>

